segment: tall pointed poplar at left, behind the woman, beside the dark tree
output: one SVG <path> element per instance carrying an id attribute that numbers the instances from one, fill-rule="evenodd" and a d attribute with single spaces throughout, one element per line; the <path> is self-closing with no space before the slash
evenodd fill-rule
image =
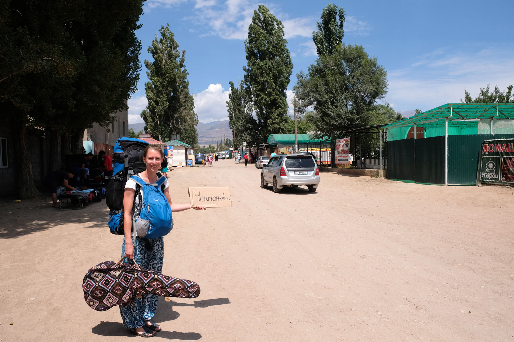
<path id="1" fill-rule="evenodd" d="M 169 24 L 161 26 L 159 33 L 160 37 L 155 36 L 148 47 L 153 62 L 144 61 L 150 79 L 144 85 L 148 107 L 141 113 L 145 130 L 161 142 L 170 140 L 172 134 L 180 134 L 182 142 L 196 146 L 198 116 L 189 92 L 186 50 L 178 50 Z"/>

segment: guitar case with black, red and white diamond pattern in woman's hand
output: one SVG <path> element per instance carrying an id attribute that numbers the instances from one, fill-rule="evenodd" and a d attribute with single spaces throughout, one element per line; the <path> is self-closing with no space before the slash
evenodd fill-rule
<path id="1" fill-rule="evenodd" d="M 170 277 L 122 261 L 105 261 L 84 276 L 84 299 L 91 308 L 105 311 L 116 305 L 127 305 L 143 294 L 180 298 L 196 298 L 200 294 L 200 287 L 194 281 Z"/>

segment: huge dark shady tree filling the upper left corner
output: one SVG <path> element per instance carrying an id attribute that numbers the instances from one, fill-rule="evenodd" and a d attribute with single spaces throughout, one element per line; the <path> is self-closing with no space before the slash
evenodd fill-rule
<path id="1" fill-rule="evenodd" d="M 114 4 L 78 0 L 19 0 L 0 5 L 0 111 L 15 141 L 21 198 L 35 190 L 27 129 L 44 128 L 50 168 L 64 152 L 81 151 L 84 129 L 108 125 L 139 77 L 140 43 L 134 31 L 142 1 Z M 72 138 L 74 136 L 74 138 Z"/>

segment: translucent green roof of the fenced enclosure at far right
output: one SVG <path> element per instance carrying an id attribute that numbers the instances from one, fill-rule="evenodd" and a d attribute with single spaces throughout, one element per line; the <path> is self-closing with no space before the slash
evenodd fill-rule
<path id="1" fill-rule="evenodd" d="M 384 126 L 384 129 L 414 125 L 443 126 L 445 119 L 449 120 L 451 126 L 466 126 L 480 119 L 512 120 L 514 103 L 448 103 L 398 120 Z"/>

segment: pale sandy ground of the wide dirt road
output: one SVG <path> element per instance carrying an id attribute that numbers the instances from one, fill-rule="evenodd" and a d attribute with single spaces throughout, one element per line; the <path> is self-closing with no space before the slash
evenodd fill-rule
<path id="1" fill-rule="evenodd" d="M 230 186 L 233 207 L 174 214 L 163 273 L 196 281 L 201 295 L 160 298 L 154 340 L 514 338 L 512 188 L 323 172 L 316 193 L 275 194 L 233 160 L 169 175 L 174 202 L 188 202 L 190 186 Z M 2 200 L 0 340 L 140 338 L 118 308 L 84 302 L 86 271 L 121 256 L 107 213 L 105 202 L 59 211 Z"/>

